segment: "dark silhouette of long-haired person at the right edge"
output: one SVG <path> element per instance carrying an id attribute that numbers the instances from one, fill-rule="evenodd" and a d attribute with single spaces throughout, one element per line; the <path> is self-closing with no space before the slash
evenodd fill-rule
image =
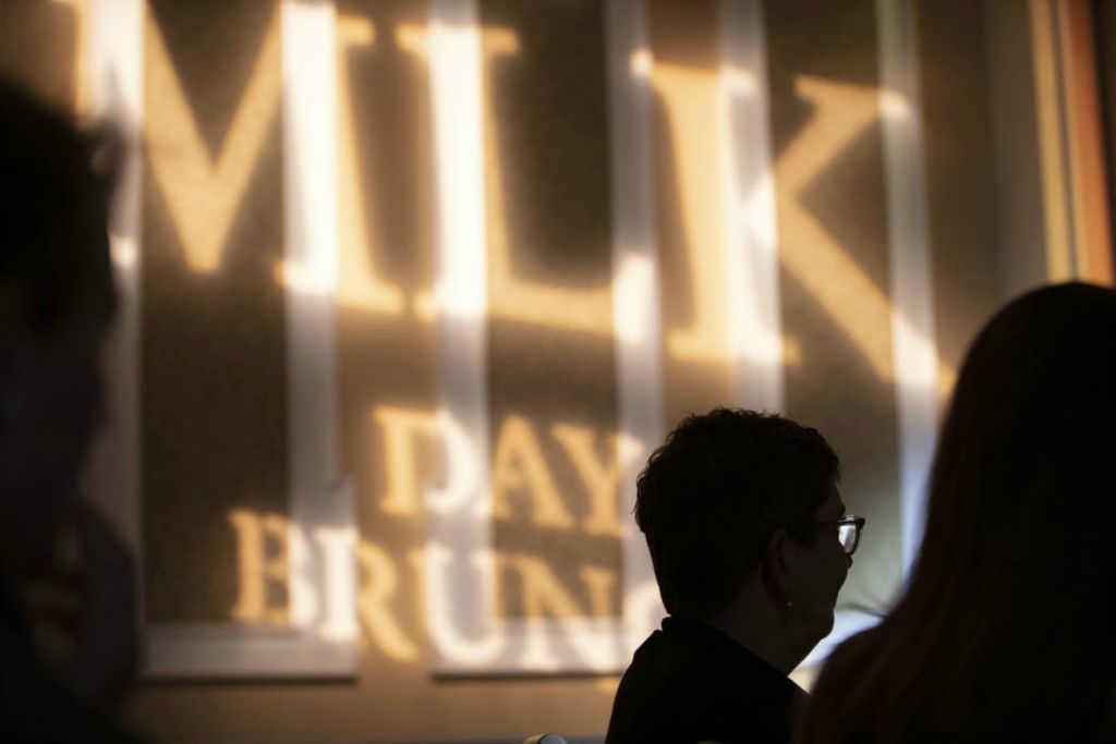
<path id="1" fill-rule="evenodd" d="M 970 349 L 911 581 L 797 741 L 1108 741 L 1114 537 L 1116 291 L 1040 289 Z"/>

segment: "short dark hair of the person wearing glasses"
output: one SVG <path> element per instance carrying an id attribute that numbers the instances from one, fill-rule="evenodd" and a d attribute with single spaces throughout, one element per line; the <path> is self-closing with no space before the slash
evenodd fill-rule
<path id="1" fill-rule="evenodd" d="M 839 479 L 837 454 L 817 429 L 739 408 L 684 418 L 636 482 L 635 519 L 666 610 L 705 619 L 722 609 L 775 530 L 810 539 L 795 526 Z"/>

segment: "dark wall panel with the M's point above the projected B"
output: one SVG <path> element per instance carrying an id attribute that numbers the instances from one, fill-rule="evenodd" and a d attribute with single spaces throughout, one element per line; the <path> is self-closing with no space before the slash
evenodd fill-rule
<path id="1" fill-rule="evenodd" d="M 237 570 L 244 512 L 287 513 L 278 4 L 152 2 L 145 54 L 147 617 L 282 621 Z"/>

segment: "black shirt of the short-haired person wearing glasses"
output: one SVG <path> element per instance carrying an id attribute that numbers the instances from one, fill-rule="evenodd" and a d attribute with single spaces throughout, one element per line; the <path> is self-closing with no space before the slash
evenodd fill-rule
<path id="1" fill-rule="evenodd" d="M 805 697 L 720 630 L 670 617 L 624 673 L 605 744 L 786 744 Z"/>

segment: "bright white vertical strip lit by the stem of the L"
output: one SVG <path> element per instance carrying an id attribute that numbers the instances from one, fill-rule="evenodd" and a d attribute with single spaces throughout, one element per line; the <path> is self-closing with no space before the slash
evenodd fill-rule
<path id="1" fill-rule="evenodd" d="M 441 471 L 426 489 L 427 617 L 441 671 L 493 664 L 483 58 L 477 0 L 431 0 Z"/>

